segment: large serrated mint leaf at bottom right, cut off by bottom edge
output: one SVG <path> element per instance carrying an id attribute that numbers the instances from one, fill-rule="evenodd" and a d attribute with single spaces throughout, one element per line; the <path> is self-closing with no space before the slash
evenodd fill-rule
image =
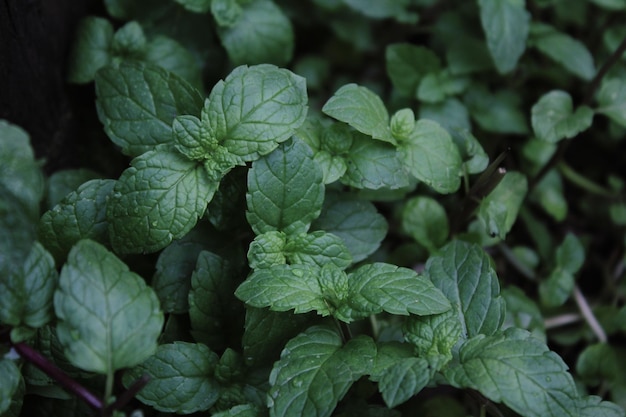
<path id="1" fill-rule="evenodd" d="M 444 374 L 458 388 L 478 390 L 526 417 L 578 416 L 578 392 L 567 365 L 519 329 L 469 339 L 459 363 Z"/>

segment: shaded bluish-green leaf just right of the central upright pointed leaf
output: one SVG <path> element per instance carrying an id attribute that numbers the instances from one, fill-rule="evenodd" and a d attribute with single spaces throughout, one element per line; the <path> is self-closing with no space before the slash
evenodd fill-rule
<path id="1" fill-rule="evenodd" d="M 387 221 L 368 201 L 348 200 L 329 194 L 321 215 L 311 224 L 313 230 L 325 230 L 339 236 L 353 262 L 372 254 L 387 235 Z"/>

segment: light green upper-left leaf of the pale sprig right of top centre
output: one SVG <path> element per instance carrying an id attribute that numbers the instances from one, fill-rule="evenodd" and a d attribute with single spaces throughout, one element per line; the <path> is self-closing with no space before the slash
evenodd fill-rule
<path id="1" fill-rule="evenodd" d="M 396 144 L 389 128 L 387 108 L 367 87 L 344 85 L 324 104 L 322 112 L 374 139 Z"/>

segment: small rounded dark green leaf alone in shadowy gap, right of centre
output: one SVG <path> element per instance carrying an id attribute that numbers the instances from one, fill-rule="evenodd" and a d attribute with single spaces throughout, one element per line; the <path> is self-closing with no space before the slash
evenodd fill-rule
<path id="1" fill-rule="evenodd" d="M 446 211 L 437 200 L 418 196 L 402 209 L 402 229 L 430 253 L 443 245 L 450 232 Z"/>

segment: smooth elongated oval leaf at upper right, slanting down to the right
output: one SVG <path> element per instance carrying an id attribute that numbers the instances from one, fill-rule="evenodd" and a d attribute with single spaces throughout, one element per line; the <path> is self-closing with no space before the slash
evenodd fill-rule
<path id="1" fill-rule="evenodd" d="M 596 75 L 593 56 L 582 42 L 544 23 L 533 23 L 529 43 L 567 71 L 591 80 Z"/>

